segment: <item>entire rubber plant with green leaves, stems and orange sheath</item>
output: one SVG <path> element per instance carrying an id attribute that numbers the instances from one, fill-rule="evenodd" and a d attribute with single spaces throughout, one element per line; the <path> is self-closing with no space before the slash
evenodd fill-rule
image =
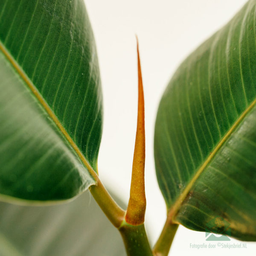
<path id="1" fill-rule="evenodd" d="M 127 255 L 168 255 L 178 224 L 256 241 L 255 13 L 256 0 L 249 0 L 186 58 L 163 94 L 154 152 L 167 218 L 151 248 L 139 51 L 137 135 L 124 210 L 97 169 L 102 92 L 83 1 L 0 1 L 1 255 L 124 254 L 102 212 Z M 80 195 L 87 189 L 102 212 Z M 214 218 L 222 221 L 207 226 Z"/>

